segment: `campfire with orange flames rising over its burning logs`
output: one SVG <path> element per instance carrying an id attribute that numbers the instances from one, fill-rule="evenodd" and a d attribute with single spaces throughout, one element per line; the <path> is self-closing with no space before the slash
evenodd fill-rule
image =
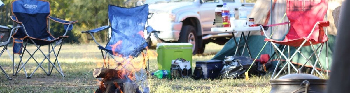
<path id="1" fill-rule="evenodd" d="M 120 41 L 121 43 L 121 41 Z M 116 43 L 115 45 L 119 45 Z M 118 48 L 114 47 L 113 48 Z M 147 54 L 146 54 L 147 53 Z M 115 55 L 118 55 L 115 53 Z M 145 70 L 146 62 L 150 57 L 156 57 L 155 51 L 146 48 L 146 52 L 142 53 L 142 57 L 121 57 L 116 64 L 114 62 L 105 62 L 102 68 L 93 70 L 93 77 L 100 78 L 99 87 L 95 93 L 149 93 L 149 85 L 147 81 L 147 71 Z M 111 64 L 110 64 L 111 63 Z M 111 67 L 117 66 L 114 69 Z M 143 92 L 142 92 L 143 91 Z"/>

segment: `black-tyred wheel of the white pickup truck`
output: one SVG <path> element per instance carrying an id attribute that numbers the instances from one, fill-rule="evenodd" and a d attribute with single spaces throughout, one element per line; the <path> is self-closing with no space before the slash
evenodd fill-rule
<path id="1" fill-rule="evenodd" d="M 199 39 L 197 38 L 196 30 L 193 26 L 182 26 L 179 36 L 179 42 L 191 43 L 193 45 L 192 54 L 196 54 L 198 51 L 198 40 Z"/>

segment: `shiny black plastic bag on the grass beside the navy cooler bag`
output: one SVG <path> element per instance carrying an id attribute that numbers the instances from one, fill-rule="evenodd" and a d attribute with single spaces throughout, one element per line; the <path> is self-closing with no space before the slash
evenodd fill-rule
<path id="1" fill-rule="evenodd" d="M 221 70 L 221 78 L 245 78 L 244 73 L 253 64 L 253 60 L 246 56 L 229 56 L 225 57 L 224 64 Z M 249 76 L 260 76 L 256 64 L 252 65 L 248 73 Z"/>

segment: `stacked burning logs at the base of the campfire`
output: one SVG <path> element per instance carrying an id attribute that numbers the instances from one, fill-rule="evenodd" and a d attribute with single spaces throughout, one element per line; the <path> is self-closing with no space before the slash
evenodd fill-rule
<path id="1" fill-rule="evenodd" d="M 131 81 L 131 71 L 95 68 L 94 78 L 103 78 L 95 93 L 141 93 L 138 85 Z"/>

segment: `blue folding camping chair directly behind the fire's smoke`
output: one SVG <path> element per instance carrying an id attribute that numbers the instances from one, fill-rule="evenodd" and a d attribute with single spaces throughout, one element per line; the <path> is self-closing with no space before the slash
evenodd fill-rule
<path id="1" fill-rule="evenodd" d="M 90 34 L 94 42 L 98 44 L 98 48 L 101 50 L 104 59 L 103 67 L 106 68 L 109 68 L 109 64 L 106 64 L 105 62 L 106 58 L 111 57 L 117 61 L 116 57 L 137 57 L 149 45 L 148 40 L 151 33 L 159 33 L 159 31 L 153 31 L 152 27 L 148 26 L 146 27 L 148 37 L 146 39 L 144 37 L 145 25 L 147 24 L 148 19 L 147 4 L 133 8 L 109 5 L 108 17 L 111 26 L 102 26 L 90 31 L 82 32 Z M 93 37 L 93 33 L 103 31 L 110 27 L 112 30 L 111 37 L 109 42 L 103 47 Z M 105 51 L 105 53 L 103 51 Z M 118 66 L 120 66 L 123 64 L 123 61 L 117 61 L 117 63 Z"/>

